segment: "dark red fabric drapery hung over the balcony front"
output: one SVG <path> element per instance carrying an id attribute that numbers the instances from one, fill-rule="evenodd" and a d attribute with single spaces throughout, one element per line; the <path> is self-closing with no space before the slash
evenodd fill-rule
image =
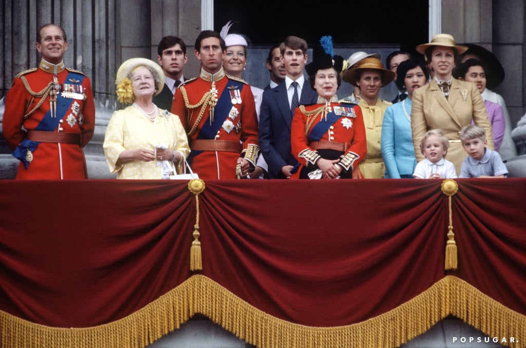
<path id="1" fill-rule="evenodd" d="M 186 181 L 2 181 L 0 320 L 116 325 L 187 286 L 189 308 L 174 309 L 184 321 L 197 302 L 213 301 L 196 291 L 207 279 L 280 323 L 352 327 L 418 299 L 448 274 L 524 320 L 526 180 L 457 182 L 457 271 L 444 272 L 441 181 L 232 180 L 207 181 L 199 195 L 203 270 L 191 272 L 196 203 Z M 446 314 L 459 315 L 442 300 Z M 231 308 L 214 306 L 225 318 L 213 319 L 247 339 L 228 327 Z M 256 336 L 247 340 L 263 342 Z"/>

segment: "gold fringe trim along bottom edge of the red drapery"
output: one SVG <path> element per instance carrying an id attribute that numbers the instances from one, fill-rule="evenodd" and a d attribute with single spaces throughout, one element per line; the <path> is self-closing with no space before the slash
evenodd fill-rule
<path id="1" fill-rule="evenodd" d="M 266 314 L 204 277 L 193 275 L 121 320 L 83 329 L 34 324 L 0 311 L 2 347 L 144 347 L 201 313 L 261 348 L 398 347 L 452 314 L 490 337 L 517 337 L 524 347 L 526 316 L 467 282 L 448 275 L 397 308 L 367 321 L 337 327 L 290 323 Z M 509 340 L 508 340 L 509 341 Z"/>

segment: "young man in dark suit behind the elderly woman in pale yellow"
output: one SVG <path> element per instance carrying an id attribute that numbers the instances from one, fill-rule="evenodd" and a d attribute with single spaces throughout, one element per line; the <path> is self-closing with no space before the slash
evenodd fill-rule
<path id="1" fill-rule="evenodd" d="M 163 37 L 157 45 L 157 62 L 165 74 L 165 84 L 161 93 L 154 97 L 154 104 L 170 111 L 176 88 L 186 79 L 183 68 L 188 61 L 186 45 L 177 36 Z"/>

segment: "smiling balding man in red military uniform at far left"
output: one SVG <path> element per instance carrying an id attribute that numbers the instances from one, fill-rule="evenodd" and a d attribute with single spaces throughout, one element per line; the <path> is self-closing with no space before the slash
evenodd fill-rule
<path id="1" fill-rule="evenodd" d="M 42 26 L 38 68 L 18 74 L 5 100 L 3 132 L 20 160 L 17 179 L 85 179 L 83 147 L 93 137 L 95 103 L 89 78 L 64 66 L 64 29 Z"/>

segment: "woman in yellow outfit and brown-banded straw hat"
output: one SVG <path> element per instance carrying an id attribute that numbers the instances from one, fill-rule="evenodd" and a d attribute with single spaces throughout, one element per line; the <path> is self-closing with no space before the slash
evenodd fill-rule
<path id="1" fill-rule="evenodd" d="M 355 66 L 343 73 L 343 79 L 353 86 L 360 87 L 363 124 L 367 138 L 367 154 L 357 168 L 352 171 L 353 179 L 381 179 L 386 172 L 380 147 L 383 114 L 391 103 L 378 97 L 380 88 L 388 85 L 395 73 L 384 69 L 380 59 L 363 58 Z"/>

